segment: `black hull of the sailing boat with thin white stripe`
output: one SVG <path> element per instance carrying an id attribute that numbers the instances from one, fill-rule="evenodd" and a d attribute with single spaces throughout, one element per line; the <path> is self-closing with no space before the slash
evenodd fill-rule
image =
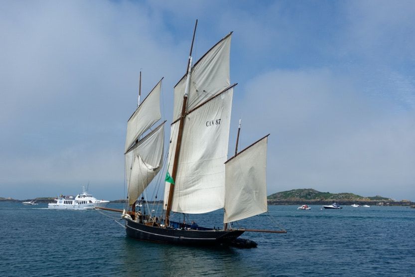
<path id="1" fill-rule="evenodd" d="M 210 229 L 196 231 L 159 228 L 137 223 L 129 219 L 126 219 L 126 232 L 129 237 L 142 241 L 193 246 L 230 244 L 244 233 L 244 231 L 240 230 L 222 231 Z"/>

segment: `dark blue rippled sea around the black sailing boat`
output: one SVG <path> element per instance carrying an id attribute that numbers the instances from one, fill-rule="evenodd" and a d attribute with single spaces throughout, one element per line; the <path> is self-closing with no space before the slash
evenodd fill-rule
<path id="1" fill-rule="evenodd" d="M 415 276 L 415 209 L 311 208 L 270 206 L 288 233 L 245 233 L 257 248 L 206 249 L 130 239 L 114 213 L 0 202 L 0 276 Z M 192 219 L 222 226 L 221 212 Z"/>

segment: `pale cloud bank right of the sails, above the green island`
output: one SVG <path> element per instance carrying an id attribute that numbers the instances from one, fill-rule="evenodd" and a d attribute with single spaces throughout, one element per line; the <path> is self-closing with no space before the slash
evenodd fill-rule
<path id="1" fill-rule="evenodd" d="M 246 91 L 245 146 L 253 133 L 271 133 L 270 193 L 314 187 L 408 196 L 394 188 L 414 186 L 414 111 L 385 114 L 394 104 L 368 98 L 327 69 L 270 72 Z"/>

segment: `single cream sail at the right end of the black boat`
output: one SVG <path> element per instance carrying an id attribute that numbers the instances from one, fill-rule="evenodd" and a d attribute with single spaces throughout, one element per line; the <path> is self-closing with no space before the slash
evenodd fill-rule
<path id="1" fill-rule="evenodd" d="M 267 141 L 268 136 L 226 162 L 224 223 L 267 211 Z"/>

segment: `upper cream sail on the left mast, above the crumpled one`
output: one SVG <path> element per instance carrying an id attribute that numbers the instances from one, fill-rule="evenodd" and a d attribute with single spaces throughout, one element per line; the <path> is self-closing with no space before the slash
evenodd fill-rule
<path id="1" fill-rule="evenodd" d="M 127 123 L 125 152 L 145 131 L 161 118 L 160 114 L 161 80 L 151 90 Z"/>

